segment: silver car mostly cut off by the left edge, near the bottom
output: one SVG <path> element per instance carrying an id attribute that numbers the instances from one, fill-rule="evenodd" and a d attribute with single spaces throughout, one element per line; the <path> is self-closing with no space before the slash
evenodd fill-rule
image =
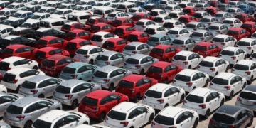
<path id="1" fill-rule="evenodd" d="M 4 116 L 4 111 L 6 110 L 7 107 L 9 107 L 9 105 L 11 105 L 12 102 L 15 102 L 16 100 L 22 99 L 23 96 L 22 95 L 18 95 L 18 94 L 11 94 L 11 93 L 3 93 L 0 92 L 0 117 Z M 1 126 L 1 124 L 0 124 Z"/>

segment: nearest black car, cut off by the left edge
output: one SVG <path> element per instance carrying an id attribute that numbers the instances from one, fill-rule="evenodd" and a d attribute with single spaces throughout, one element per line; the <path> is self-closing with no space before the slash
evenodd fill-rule
<path id="1" fill-rule="evenodd" d="M 7 36 L 0 39 L 0 48 L 2 49 L 14 44 L 22 44 L 34 47 L 36 45 L 36 40 L 33 38 L 25 38 L 22 36 Z"/>

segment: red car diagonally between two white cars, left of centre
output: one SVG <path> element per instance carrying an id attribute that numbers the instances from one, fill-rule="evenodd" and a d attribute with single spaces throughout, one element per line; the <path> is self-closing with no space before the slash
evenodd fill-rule
<path id="1" fill-rule="evenodd" d="M 67 50 L 70 53 L 70 55 L 75 55 L 76 50 L 86 45 L 96 46 L 96 44 L 91 41 L 87 41 L 82 38 L 75 38 L 73 40 L 68 41 L 67 45 L 65 46 L 65 50 Z"/>

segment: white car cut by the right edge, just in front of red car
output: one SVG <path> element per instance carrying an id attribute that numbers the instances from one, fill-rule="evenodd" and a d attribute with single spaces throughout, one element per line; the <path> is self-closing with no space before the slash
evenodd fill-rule
<path id="1" fill-rule="evenodd" d="M 248 55 L 252 55 L 256 51 L 256 39 L 253 38 L 241 38 L 240 41 L 235 45 L 238 48 L 242 48 Z"/>

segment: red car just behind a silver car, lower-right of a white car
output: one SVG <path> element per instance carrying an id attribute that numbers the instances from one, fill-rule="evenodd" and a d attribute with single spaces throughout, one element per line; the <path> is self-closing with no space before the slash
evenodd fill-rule
<path id="1" fill-rule="evenodd" d="M 127 41 L 122 38 L 110 38 L 103 43 L 102 48 L 122 53 L 122 50 L 126 45 Z"/>

